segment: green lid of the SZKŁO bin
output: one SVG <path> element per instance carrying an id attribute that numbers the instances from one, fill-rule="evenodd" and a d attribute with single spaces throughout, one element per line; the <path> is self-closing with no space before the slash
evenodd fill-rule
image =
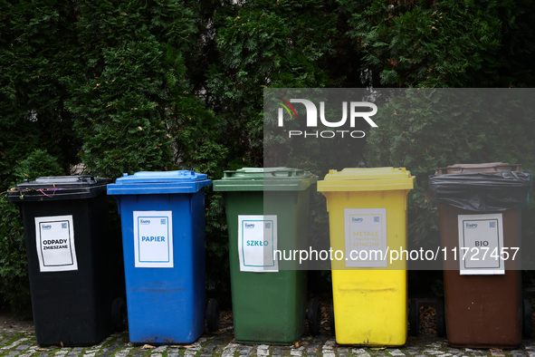
<path id="1" fill-rule="evenodd" d="M 309 171 L 289 168 L 244 168 L 225 171 L 215 191 L 301 191 L 318 181 Z"/>

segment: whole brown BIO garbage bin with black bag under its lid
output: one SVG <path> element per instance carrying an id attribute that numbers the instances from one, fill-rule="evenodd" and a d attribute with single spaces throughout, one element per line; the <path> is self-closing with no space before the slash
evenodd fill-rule
<path id="1" fill-rule="evenodd" d="M 521 207 L 530 186 L 529 170 L 501 162 L 453 165 L 430 178 L 447 252 L 437 333 L 453 346 L 515 348 L 522 333 L 531 334 L 520 259 Z"/>

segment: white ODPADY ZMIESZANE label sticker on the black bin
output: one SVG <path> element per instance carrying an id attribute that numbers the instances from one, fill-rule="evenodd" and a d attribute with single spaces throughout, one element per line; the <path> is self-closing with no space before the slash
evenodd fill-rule
<path id="1" fill-rule="evenodd" d="M 35 245 L 40 271 L 78 270 L 72 216 L 35 217 Z"/>

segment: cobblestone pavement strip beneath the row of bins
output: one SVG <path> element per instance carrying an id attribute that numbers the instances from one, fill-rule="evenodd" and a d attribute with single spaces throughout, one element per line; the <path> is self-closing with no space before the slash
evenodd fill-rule
<path id="1" fill-rule="evenodd" d="M 516 350 L 457 349 L 435 334 L 410 337 L 395 348 L 369 348 L 338 345 L 329 332 L 312 338 L 305 336 L 291 346 L 242 344 L 234 342 L 233 327 L 218 333 L 205 333 L 187 346 L 141 346 L 129 343 L 128 333 L 114 333 L 91 347 L 40 347 L 31 327 L 4 329 L 0 357 L 535 357 L 535 341 L 523 341 Z"/>

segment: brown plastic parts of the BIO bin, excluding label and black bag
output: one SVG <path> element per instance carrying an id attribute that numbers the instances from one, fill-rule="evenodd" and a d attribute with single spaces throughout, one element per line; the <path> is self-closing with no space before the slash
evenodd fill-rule
<path id="1" fill-rule="evenodd" d="M 503 163 L 454 165 L 437 169 L 448 173 L 520 171 Z M 484 188 L 483 188 L 484 189 Z M 459 215 L 496 213 L 440 204 L 442 246 L 459 248 Z M 521 210 L 498 212 L 503 218 L 503 246 L 521 247 Z M 519 253 L 520 256 L 520 253 Z M 503 275 L 461 275 L 458 260 L 444 260 L 444 304 L 448 341 L 457 347 L 516 348 L 522 337 L 520 260 L 505 262 Z"/>

